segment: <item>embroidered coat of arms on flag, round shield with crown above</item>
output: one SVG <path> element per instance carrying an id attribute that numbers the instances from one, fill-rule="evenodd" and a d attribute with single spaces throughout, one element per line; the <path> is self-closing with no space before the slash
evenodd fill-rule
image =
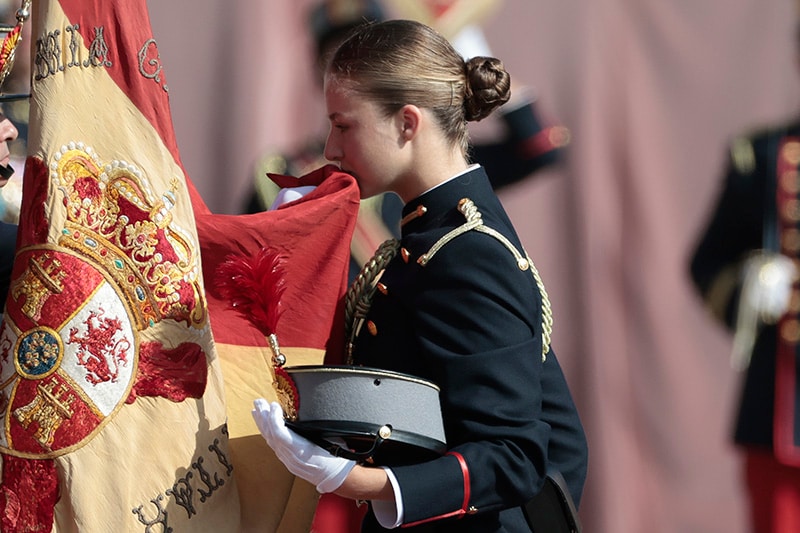
<path id="1" fill-rule="evenodd" d="M 170 192 L 155 199 L 127 163 L 80 143 L 50 168 L 67 220 L 55 245 L 17 254 L 0 331 L 0 449 L 50 458 L 80 446 L 127 400 L 139 332 L 165 317 L 204 324 L 188 239 Z M 202 361 L 204 364 L 204 361 Z"/>

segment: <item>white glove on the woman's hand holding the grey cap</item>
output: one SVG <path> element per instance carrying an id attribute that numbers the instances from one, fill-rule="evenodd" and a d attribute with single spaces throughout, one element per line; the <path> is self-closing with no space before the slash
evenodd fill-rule
<path id="1" fill-rule="evenodd" d="M 287 428 L 279 403 L 259 398 L 253 405 L 258 430 L 289 472 L 315 485 L 320 493 L 333 492 L 344 483 L 355 461 L 334 457 Z"/>

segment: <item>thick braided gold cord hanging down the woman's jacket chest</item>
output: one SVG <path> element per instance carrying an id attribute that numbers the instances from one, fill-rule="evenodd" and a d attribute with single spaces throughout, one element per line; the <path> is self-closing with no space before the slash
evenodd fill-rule
<path id="1" fill-rule="evenodd" d="M 367 261 L 361 272 L 358 273 L 353 284 L 347 289 L 345 295 L 344 324 L 345 339 L 347 339 L 346 362 L 353 364 L 353 343 L 356 335 L 367 316 L 372 299 L 375 296 L 375 289 L 378 276 L 386 268 L 400 249 L 400 241 L 388 239 L 378 247 L 372 259 Z"/>

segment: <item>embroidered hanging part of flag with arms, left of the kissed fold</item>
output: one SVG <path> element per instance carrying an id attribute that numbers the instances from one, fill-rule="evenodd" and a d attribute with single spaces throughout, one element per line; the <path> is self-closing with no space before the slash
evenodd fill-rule
<path id="1" fill-rule="evenodd" d="M 236 531 L 221 368 L 145 0 L 37 1 L 0 327 L 0 529 Z"/>

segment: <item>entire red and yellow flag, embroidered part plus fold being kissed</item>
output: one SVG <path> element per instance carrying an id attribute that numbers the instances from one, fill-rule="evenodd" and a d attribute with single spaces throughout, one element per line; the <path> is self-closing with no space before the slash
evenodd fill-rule
<path id="1" fill-rule="evenodd" d="M 180 162 L 146 0 L 34 1 L 32 36 L 0 326 L 0 530 L 310 523 L 316 495 L 244 422 L 271 390 L 266 342 L 213 295 L 211 276 L 231 253 L 284 248 L 278 335 L 297 361 L 320 362 L 339 344 L 354 181 L 329 167 L 297 205 L 213 215 Z"/>

